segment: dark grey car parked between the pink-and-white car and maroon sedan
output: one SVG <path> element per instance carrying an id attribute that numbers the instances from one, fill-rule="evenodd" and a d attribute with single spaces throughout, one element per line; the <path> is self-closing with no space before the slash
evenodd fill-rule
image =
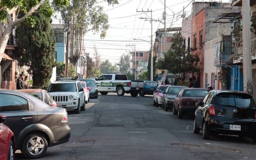
<path id="1" fill-rule="evenodd" d="M 179 94 L 180 90 L 183 88 L 187 88 L 184 86 L 169 86 L 165 92 L 163 92 L 163 103 L 162 103 L 162 109 L 165 111 L 168 111 L 169 108 L 172 109 L 174 99 Z"/>

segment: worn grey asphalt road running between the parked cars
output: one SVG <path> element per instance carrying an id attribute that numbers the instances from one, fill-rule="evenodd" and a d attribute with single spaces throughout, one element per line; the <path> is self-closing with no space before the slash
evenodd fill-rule
<path id="1" fill-rule="evenodd" d="M 193 134 L 193 115 L 178 119 L 153 106 L 152 96 L 99 95 L 80 114 L 68 112 L 68 143 L 48 148 L 40 160 L 256 160 L 249 138 Z M 23 159 L 16 151 L 16 159 Z"/>

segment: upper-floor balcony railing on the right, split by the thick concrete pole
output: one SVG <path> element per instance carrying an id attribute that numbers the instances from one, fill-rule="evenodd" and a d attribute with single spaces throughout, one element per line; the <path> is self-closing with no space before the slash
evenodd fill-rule
<path id="1" fill-rule="evenodd" d="M 256 54 L 256 34 L 254 32 L 251 32 L 251 43 L 252 43 L 252 55 Z M 234 58 L 238 58 L 243 55 L 243 36 L 242 32 L 235 37 L 235 55 Z"/>

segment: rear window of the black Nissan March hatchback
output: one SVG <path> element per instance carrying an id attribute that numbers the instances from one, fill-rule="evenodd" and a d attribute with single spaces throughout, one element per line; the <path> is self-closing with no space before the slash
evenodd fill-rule
<path id="1" fill-rule="evenodd" d="M 240 108 L 255 107 L 255 101 L 250 95 L 237 93 L 221 93 L 215 97 L 215 105 L 236 106 Z"/>

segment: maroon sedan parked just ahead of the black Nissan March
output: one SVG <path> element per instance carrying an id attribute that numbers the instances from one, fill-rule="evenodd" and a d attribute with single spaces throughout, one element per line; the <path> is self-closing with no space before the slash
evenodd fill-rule
<path id="1" fill-rule="evenodd" d="M 182 118 L 183 113 L 195 113 L 198 101 L 201 101 L 207 94 L 207 89 L 184 88 L 174 100 L 173 114 Z"/>

